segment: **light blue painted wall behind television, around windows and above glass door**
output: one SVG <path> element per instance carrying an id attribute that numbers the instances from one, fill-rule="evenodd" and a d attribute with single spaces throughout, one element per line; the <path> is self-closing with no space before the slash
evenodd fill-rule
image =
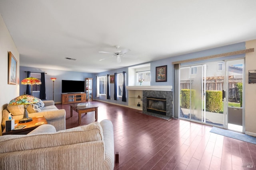
<path id="1" fill-rule="evenodd" d="M 182 61 L 187 59 L 194 59 L 198 57 L 206 57 L 210 55 L 217 55 L 222 53 L 228 53 L 233 51 L 240 51 L 245 49 L 245 42 L 242 43 L 236 43 L 232 45 L 226 45 L 223 47 L 208 49 L 204 51 L 198 51 L 194 53 L 188 53 L 184 55 L 169 57 L 167 59 L 161 59 L 157 61 L 150 62 L 150 69 L 151 69 L 151 86 L 173 86 L 174 80 L 173 80 L 173 65 L 172 62 L 175 61 Z M 245 54 L 242 55 L 236 55 L 236 56 L 229 56 L 229 57 L 222 57 L 217 59 L 210 59 L 207 60 L 207 62 L 211 61 L 220 61 L 220 60 L 228 60 L 228 59 L 236 59 L 236 58 L 242 58 Z M 191 62 L 191 63 L 184 63 L 181 65 L 187 65 L 187 64 L 200 64 L 204 63 L 206 61 L 197 61 L 197 62 Z M 144 63 L 142 63 L 144 64 Z M 140 65 L 140 64 L 138 64 Z M 157 66 L 164 66 L 167 65 L 167 82 L 156 82 L 156 67 Z M 135 66 L 135 65 L 133 65 Z M 106 74 L 113 75 L 116 73 L 122 73 L 123 71 L 126 72 L 126 84 L 128 84 L 128 67 L 119 68 L 115 70 L 110 70 L 106 72 L 100 72 L 97 74 L 92 73 L 83 73 L 83 72 L 71 72 L 71 71 L 61 71 L 61 70 L 50 70 L 50 69 L 43 69 L 43 68 L 32 68 L 32 67 L 22 67 L 20 66 L 20 81 L 26 78 L 26 72 L 24 71 L 30 71 L 30 72 L 46 72 L 46 96 L 47 100 L 52 100 L 52 80 L 50 80 L 50 77 L 56 77 L 57 80 L 54 82 L 54 101 L 60 102 L 60 96 L 61 96 L 61 80 L 84 80 L 85 78 L 93 78 L 94 83 L 94 89 L 93 89 L 93 98 L 97 100 L 103 100 L 106 102 L 121 104 L 121 105 L 127 105 L 128 102 L 122 102 L 122 98 L 118 98 L 118 100 L 114 100 L 114 84 L 110 84 L 110 100 L 106 99 L 106 96 L 100 96 L 99 98 L 96 98 L 96 76 L 104 76 Z M 24 94 L 24 91 L 26 91 L 26 85 L 20 84 L 20 94 Z M 128 97 L 128 92 L 126 92 Z M 128 99 L 127 99 L 128 101 Z"/>

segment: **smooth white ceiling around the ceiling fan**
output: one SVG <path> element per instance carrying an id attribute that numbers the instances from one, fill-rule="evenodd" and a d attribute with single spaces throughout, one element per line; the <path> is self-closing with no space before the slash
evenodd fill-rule
<path id="1" fill-rule="evenodd" d="M 0 0 L 0 14 L 20 66 L 56 70 L 98 73 L 256 39 L 256 0 Z M 131 49 L 121 63 L 98 53 L 115 45 Z"/>

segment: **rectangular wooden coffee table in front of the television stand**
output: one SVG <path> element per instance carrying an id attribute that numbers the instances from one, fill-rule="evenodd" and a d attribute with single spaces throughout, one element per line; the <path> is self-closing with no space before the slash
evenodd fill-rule
<path id="1" fill-rule="evenodd" d="M 70 117 L 73 116 L 73 110 L 78 113 L 78 124 L 81 124 L 81 114 L 90 111 L 95 111 L 95 121 L 98 120 L 98 106 L 86 103 L 86 106 L 77 106 L 77 104 L 70 105 Z"/>

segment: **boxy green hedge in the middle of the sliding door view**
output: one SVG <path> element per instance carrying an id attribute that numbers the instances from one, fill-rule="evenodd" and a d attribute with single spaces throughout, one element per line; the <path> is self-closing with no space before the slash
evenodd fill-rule
<path id="1" fill-rule="evenodd" d="M 206 90 L 206 111 L 219 113 L 222 107 L 222 91 Z"/>

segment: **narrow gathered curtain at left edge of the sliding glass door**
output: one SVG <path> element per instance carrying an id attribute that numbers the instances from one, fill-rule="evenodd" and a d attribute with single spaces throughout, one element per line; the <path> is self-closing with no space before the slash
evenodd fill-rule
<path id="1" fill-rule="evenodd" d="M 173 87 L 173 117 L 179 118 L 179 96 L 180 96 L 180 87 L 179 87 L 179 70 L 180 64 L 174 64 L 174 87 Z"/>

